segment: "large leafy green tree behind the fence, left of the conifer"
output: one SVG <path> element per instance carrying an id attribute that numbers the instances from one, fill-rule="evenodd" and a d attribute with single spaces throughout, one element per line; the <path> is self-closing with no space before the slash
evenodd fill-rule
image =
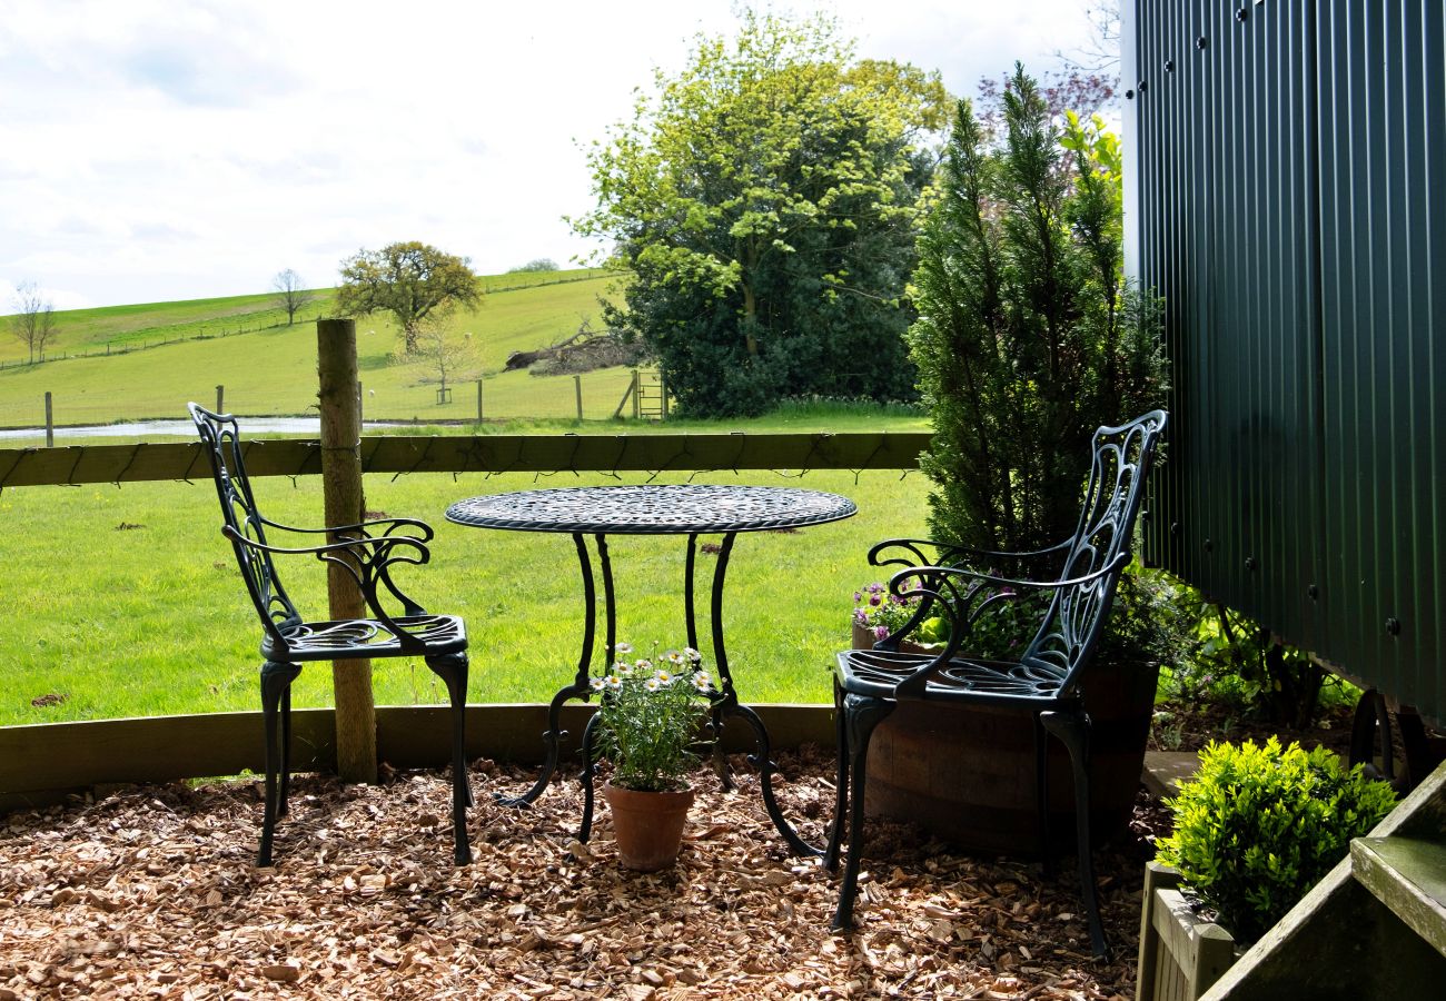
<path id="1" fill-rule="evenodd" d="M 574 226 L 632 269 L 609 323 L 658 356 L 681 411 L 911 395 L 902 295 L 946 120 L 936 75 L 856 61 L 826 17 L 745 12 L 656 74 L 594 145 L 597 207 Z"/>

